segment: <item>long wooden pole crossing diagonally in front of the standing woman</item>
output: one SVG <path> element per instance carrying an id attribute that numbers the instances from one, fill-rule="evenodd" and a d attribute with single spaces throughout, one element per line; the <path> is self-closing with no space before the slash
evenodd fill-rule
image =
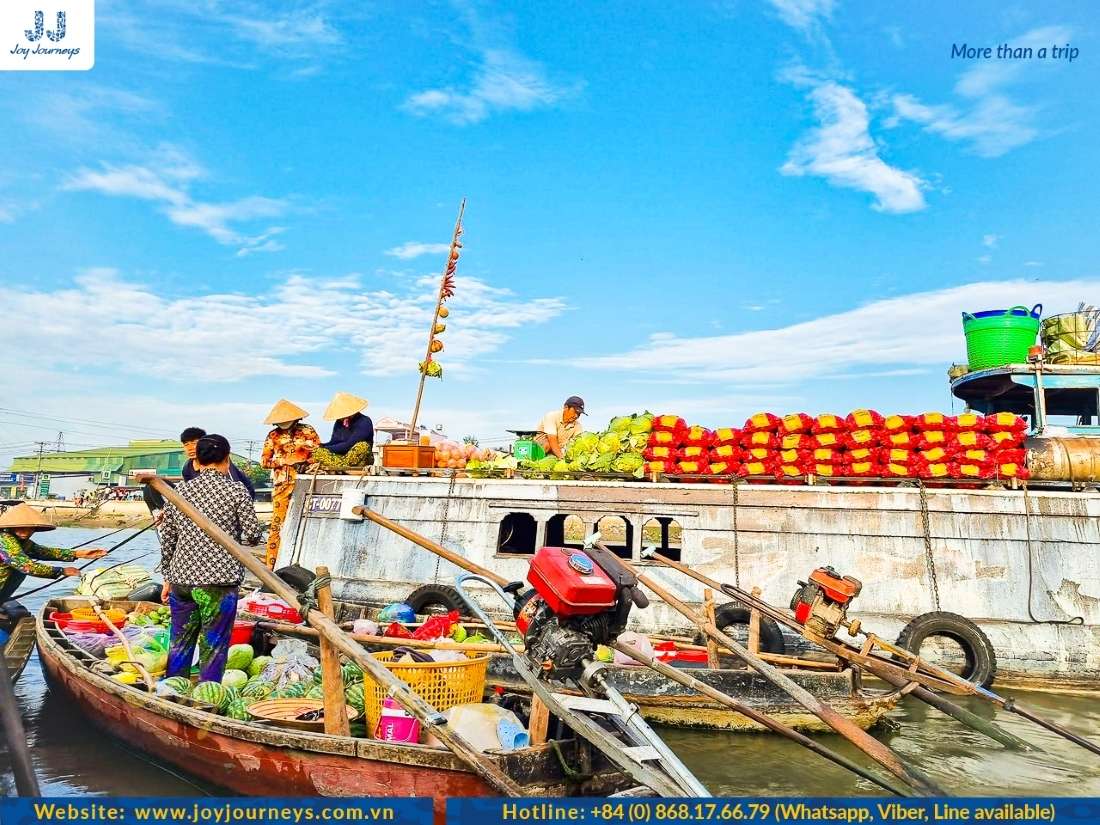
<path id="1" fill-rule="evenodd" d="M 230 556 L 243 564 L 261 583 L 272 593 L 285 601 L 300 613 L 305 613 L 308 624 L 317 628 L 317 631 L 336 647 L 341 653 L 355 662 L 370 674 L 376 682 L 384 685 L 386 693 L 397 700 L 406 711 L 451 750 L 466 767 L 484 779 L 492 788 L 507 796 L 524 796 L 522 789 L 493 762 L 486 759 L 462 736 L 448 727 L 446 717 L 435 707 L 424 701 L 405 682 L 391 673 L 377 659 L 369 654 L 353 639 L 349 638 L 340 626 L 326 616 L 320 610 L 304 610 L 298 601 L 298 594 L 286 582 L 267 569 L 263 562 L 256 559 L 252 552 L 237 543 L 218 525 L 199 513 L 190 502 L 183 498 L 175 490 L 157 476 L 144 476 L 141 479 L 144 484 L 148 484 L 156 492 L 170 502 L 176 509 L 194 521 L 199 529 L 209 536 L 219 547 L 222 547 Z"/>

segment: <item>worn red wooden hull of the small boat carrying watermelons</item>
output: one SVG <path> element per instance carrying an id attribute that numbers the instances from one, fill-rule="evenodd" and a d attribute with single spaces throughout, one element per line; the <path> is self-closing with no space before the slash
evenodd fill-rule
<path id="1" fill-rule="evenodd" d="M 497 795 L 448 750 L 235 722 L 120 684 L 97 672 L 101 660 L 45 618 L 79 604 L 86 601 L 53 600 L 36 619 L 38 656 L 52 689 L 94 725 L 193 776 L 245 795 L 277 789 L 280 795 L 432 796 L 437 823 L 448 798 Z M 635 784 L 575 740 L 487 757 L 535 796 L 604 796 Z M 563 765 L 579 769 L 574 778 Z"/>

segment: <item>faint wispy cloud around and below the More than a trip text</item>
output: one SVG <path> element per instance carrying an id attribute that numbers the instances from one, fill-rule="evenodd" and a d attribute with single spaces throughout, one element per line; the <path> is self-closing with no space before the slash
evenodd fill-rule
<path id="1" fill-rule="evenodd" d="M 1045 26 L 1010 38 L 1012 46 L 1049 47 L 1066 43 L 1072 32 L 1065 26 Z M 980 157 L 1000 157 L 1040 136 L 1038 108 L 1018 103 L 1005 91 L 1026 70 L 1034 73 L 1057 61 L 982 61 L 965 70 L 955 84 L 960 105 L 926 105 L 913 95 L 894 95 L 888 125 L 903 120 L 919 123 L 949 141 L 968 143 Z"/>

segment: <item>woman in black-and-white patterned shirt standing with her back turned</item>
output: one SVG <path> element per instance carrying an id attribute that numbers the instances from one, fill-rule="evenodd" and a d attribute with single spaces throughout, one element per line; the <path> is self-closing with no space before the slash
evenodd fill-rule
<path id="1" fill-rule="evenodd" d="M 249 491 L 229 476 L 229 452 L 223 436 L 200 438 L 199 473 L 176 492 L 239 543 L 258 544 L 263 530 Z M 169 503 L 161 524 L 161 598 L 172 609 L 166 674 L 190 676 L 197 645 L 199 679 L 220 682 L 244 566 Z"/>

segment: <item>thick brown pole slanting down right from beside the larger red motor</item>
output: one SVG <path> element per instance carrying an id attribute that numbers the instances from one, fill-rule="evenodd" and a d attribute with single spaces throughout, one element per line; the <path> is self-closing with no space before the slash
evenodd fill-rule
<path id="1" fill-rule="evenodd" d="M 816 696 L 814 696 L 810 691 L 807 691 L 802 685 L 794 682 L 789 676 L 781 673 L 779 670 L 768 664 L 763 659 L 758 656 L 750 653 L 734 638 L 722 632 L 712 623 L 707 622 L 702 615 L 693 610 L 682 601 L 672 595 L 668 590 L 662 587 L 660 584 L 654 582 L 649 576 L 644 573 L 639 573 L 628 561 L 622 562 L 624 566 L 629 570 L 634 570 L 635 574 L 638 576 L 638 581 L 644 584 L 653 595 L 663 601 L 670 607 L 674 608 L 683 616 L 689 618 L 692 624 L 698 625 L 703 628 L 703 632 L 713 638 L 715 641 L 721 642 L 725 647 L 729 648 L 733 653 L 748 664 L 752 670 L 757 671 L 760 675 L 767 679 L 769 682 L 774 684 L 777 688 L 787 693 L 791 698 L 798 702 L 800 705 L 805 707 L 810 713 L 820 718 L 831 728 L 836 730 L 840 736 L 850 741 L 857 748 L 862 750 L 867 756 L 877 761 L 888 771 L 893 773 L 901 780 L 909 782 L 913 788 L 921 791 L 922 793 L 942 796 L 943 791 L 936 787 L 936 784 L 925 777 L 921 771 L 915 768 L 910 768 L 904 762 L 899 759 L 898 755 L 894 754 L 890 748 L 880 743 L 878 739 L 870 736 L 866 730 L 859 728 L 851 719 L 837 713 L 832 706 L 825 704 Z"/>

